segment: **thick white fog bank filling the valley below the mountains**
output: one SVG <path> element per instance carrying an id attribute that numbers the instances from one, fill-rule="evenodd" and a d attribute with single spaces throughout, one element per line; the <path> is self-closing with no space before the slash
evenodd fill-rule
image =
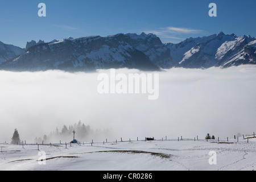
<path id="1" fill-rule="evenodd" d="M 116 72 L 139 73 L 129 69 Z M 109 129 L 113 140 L 165 136 L 176 139 L 180 135 L 199 135 L 203 139 L 207 133 L 225 138 L 251 134 L 256 129 L 254 66 L 157 72 L 158 100 L 148 100 L 147 94 L 142 93 L 100 94 L 100 73 L 109 74 L 110 70 L 1 71 L 0 143 L 10 142 L 14 129 L 21 140 L 30 143 L 56 127 L 61 130 L 63 125 L 80 120 L 94 130 Z"/>

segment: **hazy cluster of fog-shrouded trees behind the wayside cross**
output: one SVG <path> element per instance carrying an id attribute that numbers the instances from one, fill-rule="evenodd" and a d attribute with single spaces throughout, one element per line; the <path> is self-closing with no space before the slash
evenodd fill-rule
<path id="1" fill-rule="evenodd" d="M 35 143 L 56 143 L 56 142 L 71 142 L 73 140 L 73 131 L 75 130 L 75 139 L 81 142 L 89 142 L 92 139 L 104 138 L 111 135 L 108 129 L 104 130 L 92 130 L 89 125 L 85 125 L 81 121 L 71 126 L 63 125 L 59 130 L 57 127 L 55 131 L 51 131 L 48 135 L 44 135 L 43 138 L 36 137 Z"/>

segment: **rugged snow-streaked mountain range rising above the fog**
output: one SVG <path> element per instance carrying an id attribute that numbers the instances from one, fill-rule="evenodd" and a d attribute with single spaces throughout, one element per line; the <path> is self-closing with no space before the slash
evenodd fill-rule
<path id="1" fill-rule="evenodd" d="M 164 44 L 154 34 L 116 34 L 27 42 L 19 48 L 0 42 L 0 69 L 7 71 L 95 71 L 136 68 L 157 71 L 173 67 L 228 68 L 256 64 L 256 39 L 225 35 L 185 39 Z"/>

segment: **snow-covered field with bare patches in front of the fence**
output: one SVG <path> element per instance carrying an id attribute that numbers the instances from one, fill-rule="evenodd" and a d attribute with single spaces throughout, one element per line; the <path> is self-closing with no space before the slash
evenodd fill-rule
<path id="1" fill-rule="evenodd" d="M 0 170 L 173 171 L 254 170 L 256 139 L 152 140 L 72 144 L 0 144 Z M 210 151 L 216 163 L 209 164 Z M 45 152 L 45 156 L 42 155 Z M 46 159 L 39 161 L 40 159 Z M 213 161 L 211 160 L 210 161 Z"/>

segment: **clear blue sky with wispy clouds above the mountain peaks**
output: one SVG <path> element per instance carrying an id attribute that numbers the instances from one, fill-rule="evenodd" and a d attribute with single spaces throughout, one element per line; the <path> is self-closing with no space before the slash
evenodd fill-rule
<path id="1" fill-rule="evenodd" d="M 46 4 L 46 17 L 38 4 Z M 217 17 L 208 15 L 216 3 Z M 154 33 L 163 43 L 225 34 L 256 36 L 255 0 L 0 0 L 0 41 L 25 47 L 72 36 Z"/>

